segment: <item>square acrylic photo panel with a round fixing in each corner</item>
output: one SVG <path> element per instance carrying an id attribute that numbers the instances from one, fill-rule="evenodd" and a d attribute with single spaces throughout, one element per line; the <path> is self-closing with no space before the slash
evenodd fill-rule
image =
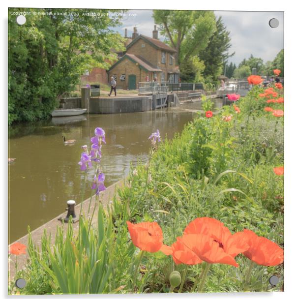
<path id="1" fill-rule="evenodd" d="M 8 294 L 284 291 L 284 13 L 8 9 Z"/>

